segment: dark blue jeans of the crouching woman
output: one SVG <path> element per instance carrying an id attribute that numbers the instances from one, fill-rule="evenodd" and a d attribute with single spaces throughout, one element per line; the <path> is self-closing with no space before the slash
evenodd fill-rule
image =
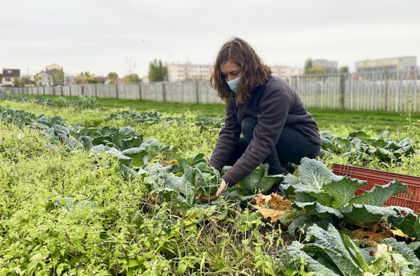
<path id="1" fill-rule="evenodd" d="M 257 123 L 258 118 L 256 117 L 246 117 L 242 120 L 241 128 L 243 137 L 239 138 L 239 143 L 226 162 L 226 165 L 233 166 L 245 152 L 249 142 L 252 140 Z M 262 163 L 268 163 L 270 166 L 268 169 L 269 174 L 283 173 L 282 166 L 285 166 L 287 163 L 300 164 L 300 160 L 303 157 L 316 158 L 320 148 L 321 145 L 312 143 L 301 132 L 286 125 L 281 131 L 276 148 Z"/>

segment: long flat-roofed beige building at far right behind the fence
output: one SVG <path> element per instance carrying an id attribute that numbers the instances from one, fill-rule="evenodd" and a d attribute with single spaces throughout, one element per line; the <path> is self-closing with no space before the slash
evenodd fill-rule
<path id="1" fill-rule="evenodd" d="M 370 73 L 378 71 L 409 71 L 418 70 L 417 57 L 381 58 L 356 62 L 357 73 Z"/>

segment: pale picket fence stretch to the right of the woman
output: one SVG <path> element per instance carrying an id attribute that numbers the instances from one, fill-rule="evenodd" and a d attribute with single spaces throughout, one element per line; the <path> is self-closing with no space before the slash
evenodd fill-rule
<path id="1" fill-rule="evenodd" d="M 288 80 L 308 108 L 339 108 L 341 101 L 348 110 L 420 112 L 418 71 L 305 75 Z"/>

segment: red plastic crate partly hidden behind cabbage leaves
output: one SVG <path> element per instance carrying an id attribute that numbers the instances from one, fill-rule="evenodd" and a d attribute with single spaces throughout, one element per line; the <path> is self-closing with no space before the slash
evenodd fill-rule
<path id="1" fill-rule="evenodd" d="M 336 175 L 346 175 L 351 178 L 366 180 L 367 186 L 360 187 L 354 195 L 360 195 L 369 191 L 375 184 L 385 185 L 394 179 L 407 184 L 407 193 L 394 195 L 389 198 L 384 206 L 402 206 L 414 210 L 417 214 L 420 208 L 420 177 L 408 174 L 390 173 L 386 171 L 372 170 L 367 168 L 333 164 L 333 173 Z"/>

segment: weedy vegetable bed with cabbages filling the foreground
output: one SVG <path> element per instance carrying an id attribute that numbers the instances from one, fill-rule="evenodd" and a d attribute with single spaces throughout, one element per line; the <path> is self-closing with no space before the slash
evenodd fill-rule
<path id="1" fill-rule="evenodd" d="M 262 165 L 217 200 L 197 201 L 220 182 L 210 152 L 197 149 L 212 148 L 223 121 L 149 111 L 103 110 L 92 127 L 1 108 L 0 275 L 419 275 L 417 215 L 381 206 L 405 184 L 355 196 L 365 182 L 303 159 L 293 176 L 268 176 Z M 159 139 L 167 133 L 175 137 Z M 396 160 L 354 156 L 404 168 L 418 158 L 417 136 L 410 141 Z M 256 197 L 279 180 L 283 197 Z"/>

